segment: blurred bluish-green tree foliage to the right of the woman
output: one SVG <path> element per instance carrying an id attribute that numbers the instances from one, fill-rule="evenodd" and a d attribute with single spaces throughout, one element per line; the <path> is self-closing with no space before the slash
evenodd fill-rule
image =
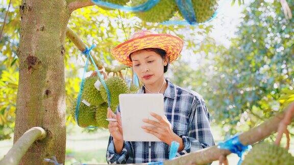
<path id="1" fill-rule="evenodd" d="M 244 9 L 229 49 L 204 53 L 194 71 L 176 66 L 174 79 L 204 96 L 213 121 L 228 135 L 247 130 L 282 110 L 283 91 L 292 93 L 293 29 L 294 19 L 284 18 L 280 2 L 254 1 Z M 292 95 L 285 97 L 293 101 Z"/>

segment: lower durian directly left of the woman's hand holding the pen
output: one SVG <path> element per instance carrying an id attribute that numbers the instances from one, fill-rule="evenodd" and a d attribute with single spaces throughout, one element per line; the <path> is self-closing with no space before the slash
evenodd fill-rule
<path id="1" fill-rule="evenodd" d="M 107 118 L 107 108 L 108 108 L 107 103 L 103 103 L 97 107 L 97 111 L 95 115 L 97 127 L 108 128 L 108 121 L 105 120 Z M 115 112 L 115 109 L 114 110 L 112 109 L 112 111 Z"/>

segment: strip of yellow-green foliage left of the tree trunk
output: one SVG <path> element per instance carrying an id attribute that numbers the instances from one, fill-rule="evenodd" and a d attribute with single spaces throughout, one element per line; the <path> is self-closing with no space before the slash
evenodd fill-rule
<path id="1" fill-rule="evenodd" d="M 2 1 L 0 15 L 2 29 L 9 1 Z M 0 140 L 10 139 L 14 128 L 18 87 L 17 46 L 19 40 L 20 1 L 12 1 L 4 34 L 0 41 Z"/>

